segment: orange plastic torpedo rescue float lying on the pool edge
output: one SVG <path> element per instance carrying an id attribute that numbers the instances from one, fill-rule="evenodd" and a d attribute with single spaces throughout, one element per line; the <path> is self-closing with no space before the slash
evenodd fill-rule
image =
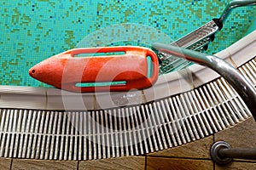
<path id="1" fill-rule="evenodd" d="M 34 65 L 29 74 L 72 92 L 128 91 L 151 87 L 158 78 L 158 65 L 149 48 L 73 48 Z"/>

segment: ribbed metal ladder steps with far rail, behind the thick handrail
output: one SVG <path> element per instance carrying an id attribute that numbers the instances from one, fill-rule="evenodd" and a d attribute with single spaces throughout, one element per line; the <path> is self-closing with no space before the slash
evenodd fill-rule
<path id="1" fill-rule="evenodd" d="M 215 34 L 223 28 L 224 21 L 230 15 L 233 8 L 243 7 L 247 5 L 255 5 L 256 0 L 234 0 L 231 1 L 224 9 L 223 14 L 218 19 L 212 19 L 210 22 L 190 32 L 184 37 L 181 37 L 171 45 L 188 48 L 199 52 L 207 50 L 210 42 L 214 40 Z M 172 71 L 181 70 L 188 65 L 185 59 L 177 59 L 170 54 L 159 53 L 160 58 L 160 74 L 166 74 Z"/>

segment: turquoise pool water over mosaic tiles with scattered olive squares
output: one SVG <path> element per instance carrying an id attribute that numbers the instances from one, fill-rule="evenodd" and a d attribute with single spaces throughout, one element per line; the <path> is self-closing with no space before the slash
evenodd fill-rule
<path id="1" fill-rule="evenodd" d="M 177 40 L 218 18 L 227 3 L 221 0 L 1 0 L 0 84 L 47 87 L 29 77 L 28 70 L 54 54 L 82 46 L 147 46 L 146 42 L 137 41 L 140 34 L 152 40 L 167 37 L 164 42 Z M 255 30 L 255 9 L 235 9 L 207 53 L 214 54 Z M 107 44 L 113 37 L 119 37 L 119 31 L 113 30 L 126 23 L 135 26 L 132 29 L 137 34 L 126 31 L 127 41 Z M 107 31 L 99 35 L 106 27 Z M 160 37 L 163 34 L 166 37 Z M 90 43 L 79 43 L 84 39 Z"/>

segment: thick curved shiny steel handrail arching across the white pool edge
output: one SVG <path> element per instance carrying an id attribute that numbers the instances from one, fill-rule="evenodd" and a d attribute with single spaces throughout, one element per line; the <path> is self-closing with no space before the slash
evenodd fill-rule
<path id="1" fill-rule="evenodd" d="M 154 43 L 153 48 L 160 53 L 171 54 L 179 58 L 187 59 L 199 65 L 205 65 L 211 68 L 230 83 L 235 88 L 236 92 L 241 96 L 248 109 L 252 112 L 254 120 L 256 121 L 256 90 L 247 82 L 247 79 L 241 75 L 232 65 L 220 59 L 217 56 L 203 54 L 193 50 L 178 48 L 176 46 L 167 45 L 163 43 Z"/>

